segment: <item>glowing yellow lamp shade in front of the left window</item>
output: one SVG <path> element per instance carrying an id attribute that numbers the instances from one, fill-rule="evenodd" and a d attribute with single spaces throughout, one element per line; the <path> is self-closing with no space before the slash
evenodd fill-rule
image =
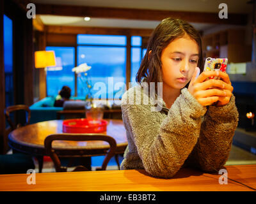
<path id="1" fill-rule="evenodd" d="M 46 68 L 47 66 L 56 66 L 54 51 L 36 51 L 35 68 Z"/>

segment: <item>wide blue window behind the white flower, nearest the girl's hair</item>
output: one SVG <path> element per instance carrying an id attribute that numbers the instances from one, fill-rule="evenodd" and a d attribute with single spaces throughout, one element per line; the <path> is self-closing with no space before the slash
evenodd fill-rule
<path id="1" fill-rule="evenodd" d="M 96 98 L 121 98 L 125 87 L 126 36 L 77 35 L 77 64 L 92 66 L 87 73 Z M 92 46 L 93 45 L 93 46 Z M 97 83 L 97 84 L 96 84 Z M 77 96 L 86 96 L 77 79 Z"/>

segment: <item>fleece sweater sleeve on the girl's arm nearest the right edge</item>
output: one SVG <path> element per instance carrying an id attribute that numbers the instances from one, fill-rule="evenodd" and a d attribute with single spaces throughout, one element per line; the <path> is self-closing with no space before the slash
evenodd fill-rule
<path id="1" fill-rule="evenodd" d="M 198 143 L 188 157 L 188 163 L 204 171 L 220 170 L 228 160 L 238 117 L 233 94 L 227 105 L 209 106 Z"/>

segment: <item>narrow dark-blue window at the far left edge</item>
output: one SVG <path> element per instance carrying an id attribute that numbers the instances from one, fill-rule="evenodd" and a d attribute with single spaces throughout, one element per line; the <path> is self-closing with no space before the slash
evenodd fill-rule
<path id="1" fill-rule="evenodd" d="M 4 15 L 4 73 L 5 106 L 14 105 L 13 101 L 13 30 L 12 20 Z"/>

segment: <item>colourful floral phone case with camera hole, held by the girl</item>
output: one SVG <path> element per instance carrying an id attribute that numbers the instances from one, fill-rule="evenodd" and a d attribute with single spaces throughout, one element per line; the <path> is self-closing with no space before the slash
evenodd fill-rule
<path id="1" fill-rule="evenodd" d="M 228 59 L 227 58 L 207 57 L 207 59 L 205 59 L 204 71 L 219 70 L 219 71 L 226 72 L 227 64 L 228 64 Z M 209 77 L 209 78 L 212 79 L 214 77 Z M 215 79 L 220 79 L 220 77 L 215 77 Z"/>

